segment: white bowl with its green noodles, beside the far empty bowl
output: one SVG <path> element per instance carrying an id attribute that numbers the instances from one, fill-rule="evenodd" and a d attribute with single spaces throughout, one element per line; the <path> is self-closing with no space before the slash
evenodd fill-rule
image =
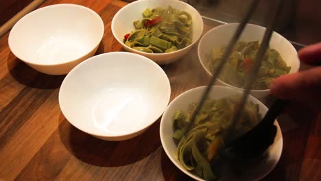
<path id="1" fill-rule="evenodd" d="M 111 29 L 126 51 L 169 64 L 189 53 L 200 39 L 203 21 L 185 2 L 141 0 L 121 8 Z"/>

